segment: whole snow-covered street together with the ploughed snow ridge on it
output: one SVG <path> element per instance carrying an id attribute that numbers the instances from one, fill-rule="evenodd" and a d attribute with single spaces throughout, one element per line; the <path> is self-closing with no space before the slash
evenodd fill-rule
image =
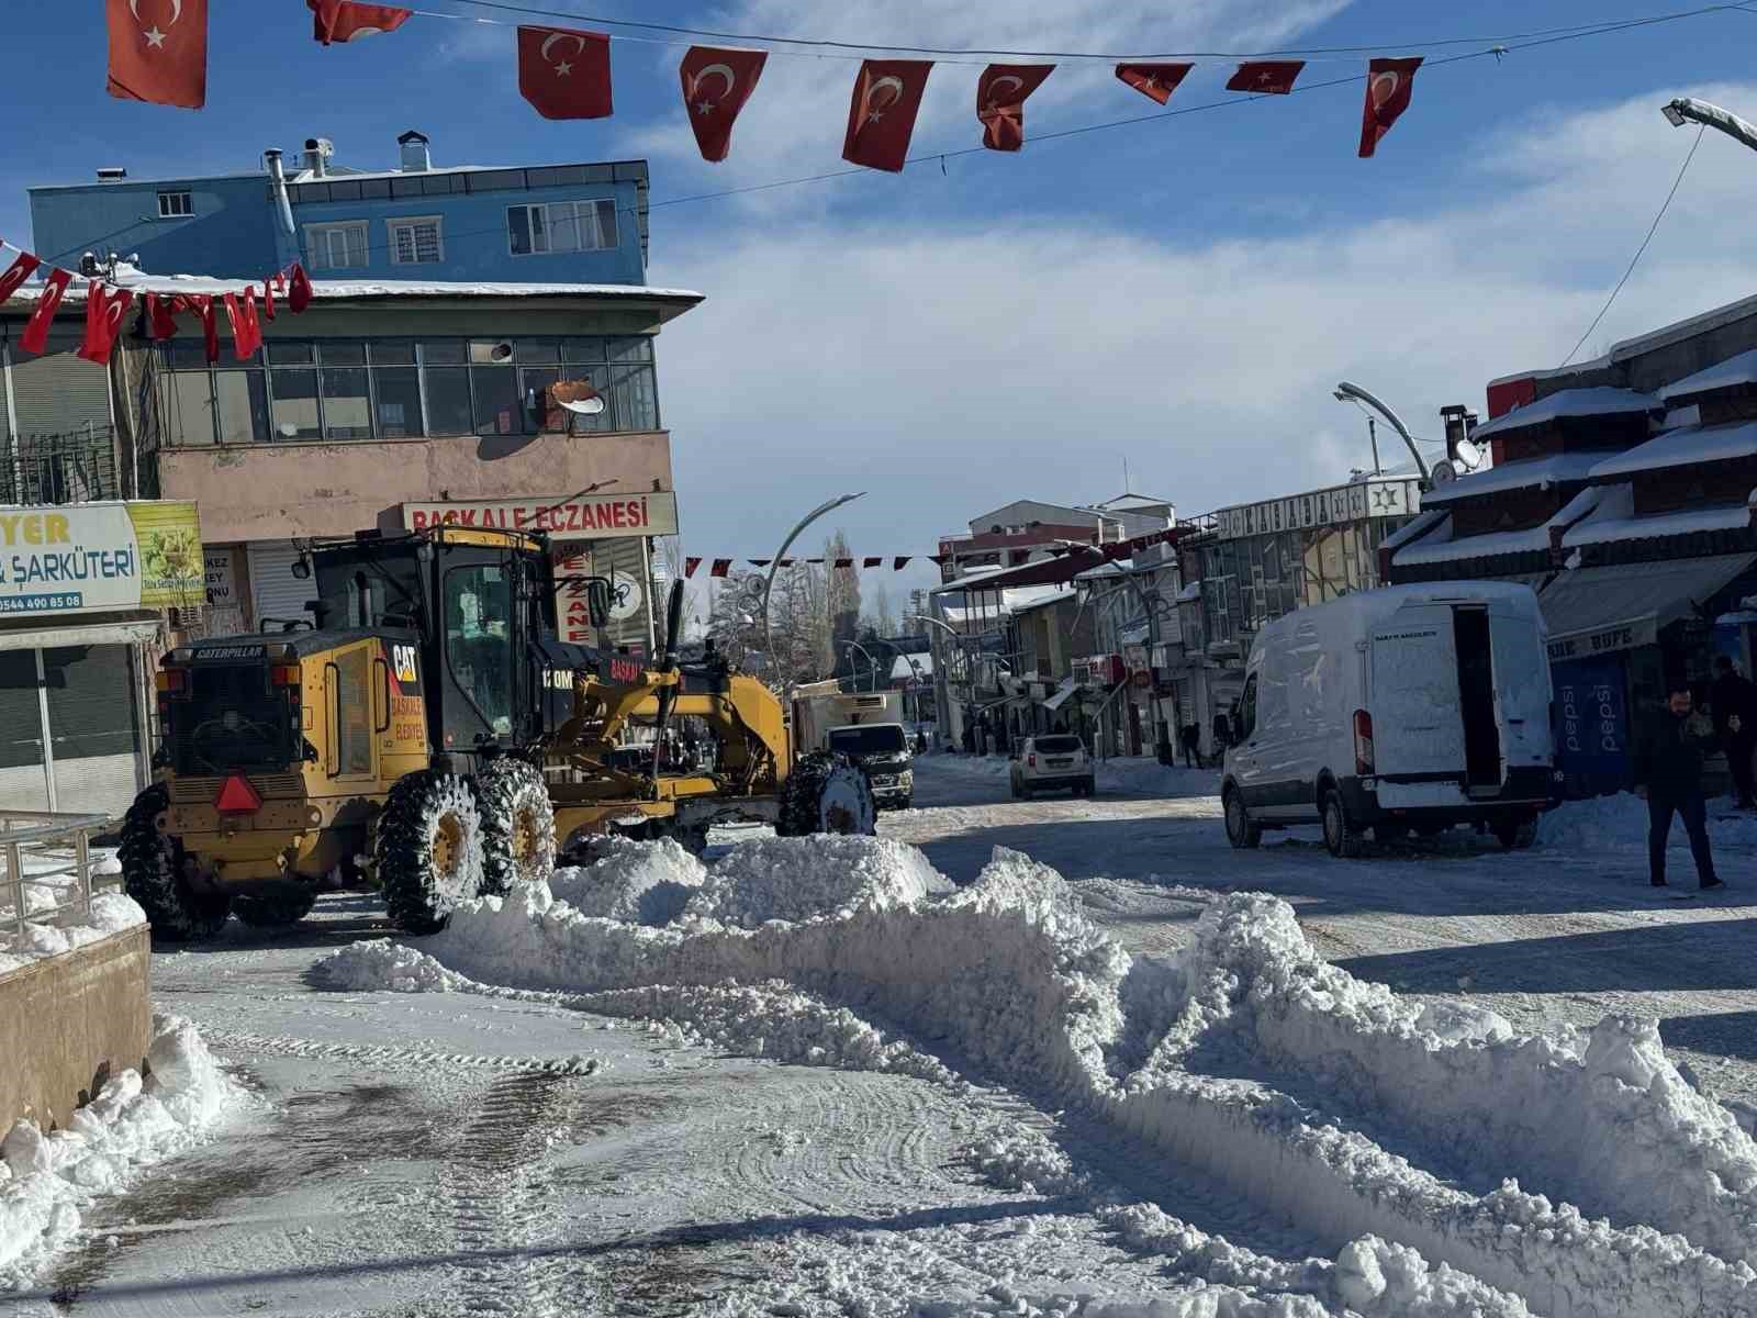
<path id="1" fill-rule="evenodd" d="M 921 852 L 622 845 L 408 945 L 332 898 L 158 956 L 251 1097 L 0 1311 L 1757 1313 L 1752 1032 L 1599 1023 L 1750 1019 L 1738 896 L 917 771 Z"/>

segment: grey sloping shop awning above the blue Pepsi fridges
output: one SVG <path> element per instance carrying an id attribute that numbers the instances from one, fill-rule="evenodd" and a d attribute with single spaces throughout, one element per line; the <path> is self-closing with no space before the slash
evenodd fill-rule
<path id="1" fill-rule="evenodd" d="M 1653 645 L 1660 627 L 1692 617 L 1753 562 L 1757 554 L 1715 554 L 1562 573 L 1537 596 L 1550 663 Z"/>

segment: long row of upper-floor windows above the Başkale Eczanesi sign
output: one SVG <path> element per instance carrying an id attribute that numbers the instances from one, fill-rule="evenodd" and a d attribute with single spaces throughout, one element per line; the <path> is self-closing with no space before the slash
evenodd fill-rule
<path id="1" fill-rule="evenodd" d="M 596 416 L 571 434 L 657 431 L 652 341 L 276 339 L 249 362 L 207 364 L 200 341 L 162 346 L 158 390 L 169 448 L 422 436 L 539 434 L 543 394 L 587 381 Z"/>

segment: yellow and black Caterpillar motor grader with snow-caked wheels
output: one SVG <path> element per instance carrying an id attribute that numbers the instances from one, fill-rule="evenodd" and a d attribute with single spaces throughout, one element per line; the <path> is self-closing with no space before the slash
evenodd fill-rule
<path id="1" fill-rule="evenodd" d="M 478 893 L 546 877 L 603 833 L 699 849 L 722 819 L 782 835 L 871 833 L 863 773 L 794 759 L 780 699 L 724 659 L 676 659 L 682 583 L 652 668 L 557 638 L 541 536 L 434 527 L 313 547 L 309 619 L 172 650 L 158 673 L 156 780 L 123 824 L 128 893 L 155 933 L 206 938 L 228 912 L 288 924 L 318 882 L 376 879 L 392 921 L 445 924 Z M 608 583 L 587 583 L 594 626 Z M 269 620 L 278 622 L 278 620 Z M 267 626 L 267 622 L 265 622 Z M 712 771 L 668 771 L 694 717 Z M 650 771 L 611 766 L 650 726 Z"/>

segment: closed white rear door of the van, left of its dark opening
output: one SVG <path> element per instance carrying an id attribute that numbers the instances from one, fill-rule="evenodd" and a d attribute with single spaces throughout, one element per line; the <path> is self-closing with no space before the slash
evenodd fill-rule
<path id="1" fill-rule="evenodd" d="M 1393 780 L 1465 770 L 1458 647 L 1446 605 L 1400 608 L 1372 633 L 1374 771 Z"/>

